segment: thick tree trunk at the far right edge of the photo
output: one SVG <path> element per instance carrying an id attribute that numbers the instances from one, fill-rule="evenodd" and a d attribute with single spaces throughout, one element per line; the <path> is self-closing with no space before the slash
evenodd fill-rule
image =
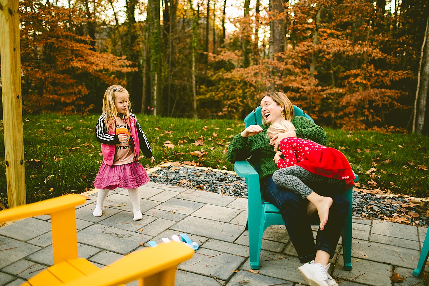
<path id="1" fill-rule="evenodd" d="M 417 79 L 417 92 L 416 92 L 416 101 L 417 98 L 419 99 L 418 105 L 418 111 L 417 106 L 414 104 L 414 114 L 417 113 L 417 133 L 422 134 L 423 133 L 423 126 L 425 123 L 425 115 L 426 115 L 426 99 L 429 91 L 429 47 L 426 44 L 427 43 L 427 36 L 429 33 L 429 17 L 426 20 L 426 31 L 424 35 L 423 45 L 422 45 L 422 53 L 420 58 L 420 66 L 419 66 L 419 75 Z M 423 52 L 424 51 L 424 52 Z M 420 75 L 420 69 L 422 70 L 422 74 Z M 420 79 L 421 77 L 421 79 Z M 415 118 L 415 116 L 414 116 Z M 413 122 L 414 127 L 414 122 Z M 414 132 L 414 128 L 413 128 Z"/>

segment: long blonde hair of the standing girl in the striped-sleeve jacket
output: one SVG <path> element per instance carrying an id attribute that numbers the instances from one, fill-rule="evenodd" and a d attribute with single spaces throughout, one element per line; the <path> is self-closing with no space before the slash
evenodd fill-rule
<path id="1" fill-rule="evenodd" d="M 128 96 L 128 108 L 127 112 L 124 114 L 124 120 L 127 120 L 130 117 L 131 112 L 131 102 L 130 102 L 130 93 L 128 90 L 121 85 L 111 85 L 106 89 L 103 98 L 103 117 L 106 124 L 107 130 L 111 131 L 115 128 L 115 122 L 118 121 L 118 109 L 116 108 L 116 95 L 118 93 L 127 93 Z"/>

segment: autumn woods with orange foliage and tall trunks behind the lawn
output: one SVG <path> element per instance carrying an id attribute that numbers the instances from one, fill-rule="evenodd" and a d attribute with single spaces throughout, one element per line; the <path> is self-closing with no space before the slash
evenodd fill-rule
<path id="1" fill-rule="evenodd" d="M 21 0 L 23 110 L 100 113 L 123 84 L 135 113 L 241 119 L 283 91 L 320 125 L 427 134 L 428 3 Z"/>

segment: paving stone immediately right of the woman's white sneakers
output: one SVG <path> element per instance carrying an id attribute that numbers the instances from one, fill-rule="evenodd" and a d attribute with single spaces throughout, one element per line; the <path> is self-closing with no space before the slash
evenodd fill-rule
<path id="1" fill-rule="evenodd" d="M 352 259 L 352 267 L 353 269 L 351 271 L 344 270 L 343 257 L 340 256 L 338 257 L 338 261 L 331 276 L 374 286 L 391 285 L 391 265 L 372 262 L 366 259 L 353 262 Z"/>

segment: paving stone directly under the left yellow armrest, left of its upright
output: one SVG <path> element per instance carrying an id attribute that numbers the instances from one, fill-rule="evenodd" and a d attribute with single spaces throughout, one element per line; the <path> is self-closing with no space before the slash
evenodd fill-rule
<path id="1" fill-rule="evenodd" d="M 51 231 L 51 224 L 43 220 L 29 217 L 0 229 L 0 235 L 15 238 L 20 241 L 28 241 L 36 236 Z"/>

